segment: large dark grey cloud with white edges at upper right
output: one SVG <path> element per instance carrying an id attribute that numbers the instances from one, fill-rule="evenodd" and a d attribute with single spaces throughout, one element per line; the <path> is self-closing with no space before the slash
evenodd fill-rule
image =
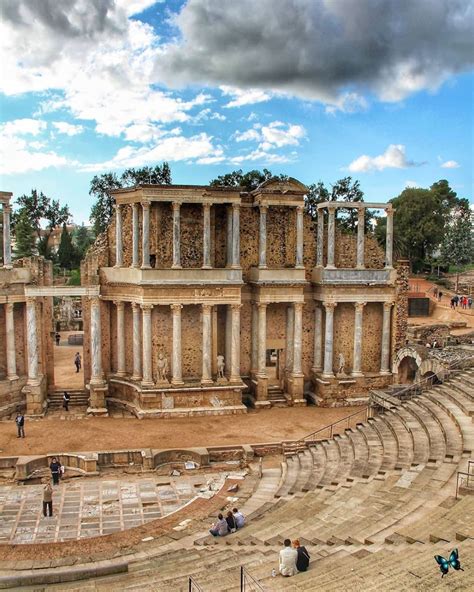
<path id="1" fill-rule="evenodd" d="M 158 79 L 286 92 L 335 105 L 398 101 L 473 63 L 470 0 L 189 0 Z M 230 106 L 230 105 L 229 105 Z M 236 106 L 236 105 L 233 105 Z"/>

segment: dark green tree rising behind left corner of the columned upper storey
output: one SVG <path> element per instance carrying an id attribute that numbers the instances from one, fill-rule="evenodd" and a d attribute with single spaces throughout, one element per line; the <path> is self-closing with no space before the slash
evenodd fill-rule
<path id="1" fill-rule="evenodd" d="M 134 185 L 171 185 L 171 169 L 167 162 L 161 166 L 129 168 L 120 177 L 115 173 L 95 175 L 91 181 L 89 195 L 95 199 L 89 216 L 95 235 L 104 232 L 112 218 L 115 200 L 111 192 Z"/>

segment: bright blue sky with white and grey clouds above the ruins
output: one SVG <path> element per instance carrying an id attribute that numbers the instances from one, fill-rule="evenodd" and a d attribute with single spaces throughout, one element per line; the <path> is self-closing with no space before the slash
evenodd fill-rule
<path id="1" fill-rule="evenodd" d="M 446 178 L 473 198 L 473 3 L 4 0 L 1 188 L 87 222 L 94 174 L 166 160 L 351 175 L 366 200 Z"/>

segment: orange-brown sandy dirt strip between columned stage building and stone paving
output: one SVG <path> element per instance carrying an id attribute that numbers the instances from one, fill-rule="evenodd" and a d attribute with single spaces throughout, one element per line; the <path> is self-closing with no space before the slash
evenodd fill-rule
<path id="1" fill-rule="evenodd" d="M 320 427 L 361 411 L 361 407 L 272 408 L 244 415 L 180 419 L 91 417 L 25 422 L 24 439 L 17 439 L 15 423 L 0 422 L 0 454 L 30 455 L 130 448 L 179 448 L 294 440 Z M 361 411 L 354 422 L 363 421 Z M 342 425 L 345 428 L 346 425 Z"/>

